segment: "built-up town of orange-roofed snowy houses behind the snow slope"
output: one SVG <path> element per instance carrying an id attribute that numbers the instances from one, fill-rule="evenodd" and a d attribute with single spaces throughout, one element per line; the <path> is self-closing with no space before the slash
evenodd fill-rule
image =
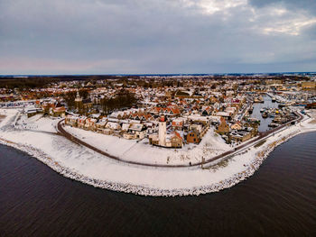
<path id="1" fill-rule="evenodd" d="M 46 87 L 2 88 L 2 107 L 64 118 L 64 124 L 164 148 L 199 144 L 209 128 L 233 146 L 258 135 L 254 105 L 269 127 L 295 118 L 292 106 L 315 107 L 315 77 L 115 77 L 51 82 Z M 303 111 L 303 109 L 302 109 Z"/>

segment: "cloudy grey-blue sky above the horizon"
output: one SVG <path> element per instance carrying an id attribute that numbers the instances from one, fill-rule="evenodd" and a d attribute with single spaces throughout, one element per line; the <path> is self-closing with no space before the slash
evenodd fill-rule
<path id="1" fill-rule="evenodd" d="M 0 74 L 316 71 L 315 0 L 0 0 Z"/>

